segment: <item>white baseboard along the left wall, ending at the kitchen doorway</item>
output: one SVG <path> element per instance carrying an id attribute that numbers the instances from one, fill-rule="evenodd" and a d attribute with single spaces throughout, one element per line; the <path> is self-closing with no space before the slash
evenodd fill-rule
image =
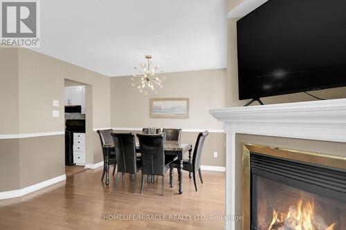
<path id="1" fill-rule="evenodd" d="M 56 178 L 45 180 L 43 182 L 39 182 L 37 184 L 33 184 L 23 189 L 3 191 L 3 192 L 0 192 L 0 200 L 10 199 L 10 198 L 19 198 L 28 193 L 33 193 L 34 191 L 37 191 L 39 189 L 43 189 L 45 187 L 51 186 L 52 184 L 56 184 L 57 182 L 62 182 L 63 180 L 66 180 L 66 174 L 60 175 Z"/>

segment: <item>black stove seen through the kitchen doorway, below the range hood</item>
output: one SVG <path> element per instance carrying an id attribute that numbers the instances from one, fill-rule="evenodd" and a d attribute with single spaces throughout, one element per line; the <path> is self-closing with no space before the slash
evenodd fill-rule
<path id="1" fill-rule="evenodd" d="M 65 165 L 73 164 L 73 133 L 85 133 L 84 119 L 67 119 L 65 124 Z"/>

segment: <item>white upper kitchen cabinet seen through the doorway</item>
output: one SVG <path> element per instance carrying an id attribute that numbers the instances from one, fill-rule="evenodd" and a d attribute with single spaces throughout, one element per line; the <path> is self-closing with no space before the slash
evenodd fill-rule
<path id="1" fill-rule="evenodd" d="M 82 114 L 85 113 L 85 87 L 66 86 L 64 91 L 65 106 L 82 106 Z"/>

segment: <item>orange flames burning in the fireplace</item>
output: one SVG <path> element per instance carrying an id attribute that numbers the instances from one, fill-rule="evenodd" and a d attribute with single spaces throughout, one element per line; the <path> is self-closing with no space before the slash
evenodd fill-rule
<path id="1" fill-rule="evenodd" d="M 313 211 L 313 200 L 298 200 L 297 207 L 289 207 L 288 213 L 273 210 L 273 220 L 268 230 L 333 230 L 336 223 L 327 226 L 325 220 Z"/>

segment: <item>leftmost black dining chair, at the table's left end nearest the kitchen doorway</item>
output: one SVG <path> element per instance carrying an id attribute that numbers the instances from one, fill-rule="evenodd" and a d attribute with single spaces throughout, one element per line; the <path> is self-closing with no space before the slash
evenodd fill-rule
<path id="1" fill-rule="evenodd" d="M 103 172 L 102 172 L 102 178 L 104 178 L 104 174 L 106 173 L 107 170 L 107 165 L 106 165 L 106 154 L 107 154 L 107 146 L 108 144 L 114 144 L 113 143 L 113 138 L 111 137 L 111 133 L 113 132 L 113 129 L 106 129 L 106 130 L 98 130 L 98 135 L 100 136 L 100 142 L 102 146 L 102 155 L 103 155 Z M 110 149 L 110 154 L 109 154 L 109 160 L 108 164 L 113 165 L 113 175 L 114 172 L 116 171 L 116 152 L 114 148 Z"/>

